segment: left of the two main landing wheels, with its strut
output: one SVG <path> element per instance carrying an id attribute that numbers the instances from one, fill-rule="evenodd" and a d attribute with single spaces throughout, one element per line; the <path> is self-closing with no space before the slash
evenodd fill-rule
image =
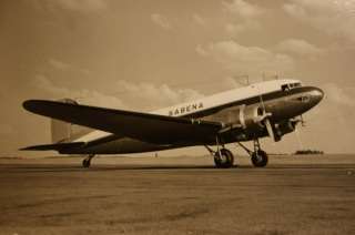
<path id="1" fill-rule="evenodd" d="M 234 156 L 231 151 L 224 147 L 222 145 L 222 149 L 220 149 L 220 143 L 219 139 L 216 137 L 216 145 L 217 145 L 217 151 L 213 151 L 211 147 L 205 145 L 207 151 L 211 153 L 211 155 L 214 159 L 214 164 L 217 168 L 230 168 L 233 166 L 234 163 Z"/>

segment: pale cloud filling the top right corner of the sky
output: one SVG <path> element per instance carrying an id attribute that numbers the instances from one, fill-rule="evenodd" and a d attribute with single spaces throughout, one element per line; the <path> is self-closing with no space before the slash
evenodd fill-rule
<path id="1" fill-rule="evenodd" d="M 336 38 L 355 42 L 355 1 L 291 0 L 284 11 L 313 28 Z"/>

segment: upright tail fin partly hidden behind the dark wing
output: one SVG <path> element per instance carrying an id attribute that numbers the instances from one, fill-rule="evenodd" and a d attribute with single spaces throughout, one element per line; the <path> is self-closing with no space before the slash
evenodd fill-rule
<path id="1" fill-rule="evenodd" d="M 63 103 L 78 104 L 77 101 L 71 99 L 63 99 L 60 101 Z M 51 119 L 52 143 L 69 143 L 82 135 L 90 133 L 92 129 L 85 126 Z"/>

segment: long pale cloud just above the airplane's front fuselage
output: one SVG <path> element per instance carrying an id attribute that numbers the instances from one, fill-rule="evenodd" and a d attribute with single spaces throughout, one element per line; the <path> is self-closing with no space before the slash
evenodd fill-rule
<path id="1" fill-rule="evenodd" d="M 203 50 L 236 74 L 260 75 L 264 72 L 290 72 L 294 69 L 293 59 L 286 54 L 273 53 L 258 47 L 245 47 L 233 40 L 213 42 Z"/>

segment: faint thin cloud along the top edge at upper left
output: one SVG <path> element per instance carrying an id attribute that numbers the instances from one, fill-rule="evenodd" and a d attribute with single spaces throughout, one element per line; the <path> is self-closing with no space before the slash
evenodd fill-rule
<path id="1" fill-rule="evenodd" d="M 77 12 L 95 12 L 108 9 L 105 0 L 37 0 L 34 4 L 41 9 L 61 9 Z"/>

